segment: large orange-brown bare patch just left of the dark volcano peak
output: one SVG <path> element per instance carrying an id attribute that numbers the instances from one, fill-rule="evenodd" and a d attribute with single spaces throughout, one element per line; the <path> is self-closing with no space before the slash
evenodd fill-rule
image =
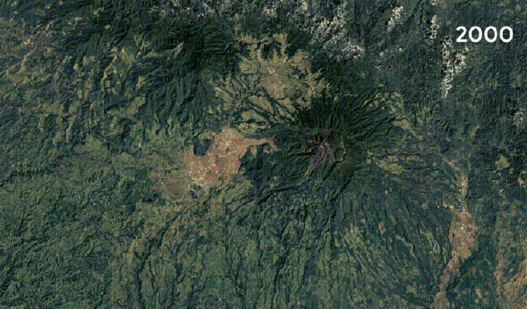
<path id="1" fill-rule="evenodd" d="M 273 142 L 267 139 L 246 138 L 235 129 L 223 129 L 214 136 L 214 143 L 204 156 L 196 156 L 193 147 L 185 155 L 186 173 L 193 183 L 204 190 L 221 185 L 223 180 L 232 179 L 240 169 L 240 158 L 251 146 Z"/>

